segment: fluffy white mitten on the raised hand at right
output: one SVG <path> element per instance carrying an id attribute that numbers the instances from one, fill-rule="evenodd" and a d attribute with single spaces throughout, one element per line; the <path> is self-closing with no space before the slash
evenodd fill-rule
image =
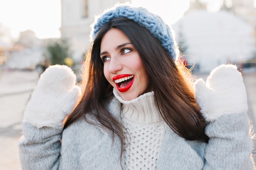
<path id="1" fill-rule="evenodd" d="M 195 99 L 206 121 L 224 114 L 247 113 L 247 95 L 243 77 L 234 65 L 221 65 L 211 71 L 206 83 L 195 82 Z"/>

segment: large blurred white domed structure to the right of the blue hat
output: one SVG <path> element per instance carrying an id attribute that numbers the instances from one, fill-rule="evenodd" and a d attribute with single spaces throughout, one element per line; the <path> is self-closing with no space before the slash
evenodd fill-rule
<path id="1" fill-rule="evenodd" d="M 255 64 L 254 0 L 224 0 L 217 12 L 207 11 L 207 4 L 200 0 L 191 1 L 173 29 L 187 64 L 195 64 L 194 71 L 209 72 L 227 63 Z"/>

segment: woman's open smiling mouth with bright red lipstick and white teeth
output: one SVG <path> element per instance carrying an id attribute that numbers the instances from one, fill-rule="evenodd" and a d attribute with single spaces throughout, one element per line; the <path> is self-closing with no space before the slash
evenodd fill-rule
<path id="1" fill-rule="evenodd" d="M 126 92 L 132 86 L 134 75 L 117 75 L 113 77 L 113 80 L 117 86 L 118 91 Z"/>

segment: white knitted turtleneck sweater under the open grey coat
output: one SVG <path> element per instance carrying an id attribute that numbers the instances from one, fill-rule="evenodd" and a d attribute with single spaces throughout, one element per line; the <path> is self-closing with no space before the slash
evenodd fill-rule
<path id="1" fill-rule="evenodd" d="M 126 170 L 155 170 L 162 146 L 166 123 L 154 101 L 154 93 L 145 93 L 125 101 L 113 91 L 121 102 L 122 123 L 128 133 L 124 149 Z"/>

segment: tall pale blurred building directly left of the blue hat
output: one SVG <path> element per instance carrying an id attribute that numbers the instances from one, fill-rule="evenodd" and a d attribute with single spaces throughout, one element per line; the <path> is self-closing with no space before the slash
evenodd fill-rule
<path id="1" fill-rule="evenodd" d="M 61 37 L 70 42 L 75 61 L 82 61 L 89 49 L 94 16 L 117 2 L 131 0 L 61 0 Z"/>

